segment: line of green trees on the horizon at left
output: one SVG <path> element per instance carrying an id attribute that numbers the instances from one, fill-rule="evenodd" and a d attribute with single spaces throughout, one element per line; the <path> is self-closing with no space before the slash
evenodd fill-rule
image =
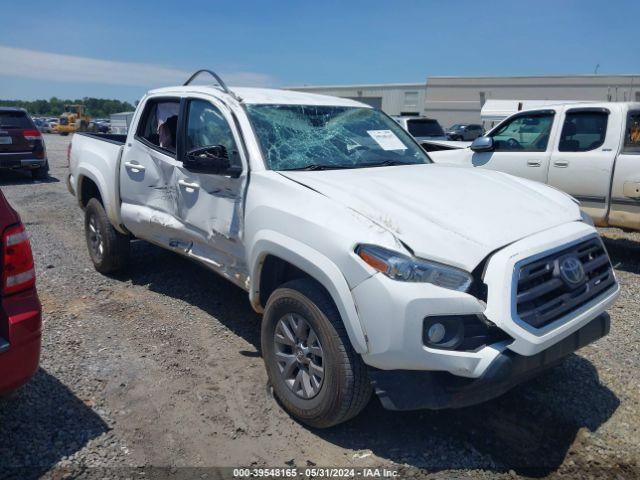
<path id="1" fill-rule="evenodd" d="M 138 102 L 136 102 L 138 103 Z M 32 116 L 57 117 L 64 111 L 65 105 L 84 105 L 86 114 L 94 117 L 108 117 L 112 113 L 130 112 L 135 109 L 129 102 L 106 98 L 84 97 L 83 99 L 65 100 L 51 97 L 49 100 L 0 100 L 2 107 L 24 108 Z"/>

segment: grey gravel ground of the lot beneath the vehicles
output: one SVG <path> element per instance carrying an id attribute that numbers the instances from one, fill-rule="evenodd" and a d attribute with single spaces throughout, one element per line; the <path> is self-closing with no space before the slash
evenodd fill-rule
<path id="1" fill-rule="evenodd" d="M 639 234 L 602 231 L 622 284 L 612 331 L 563 365 L 480 406 L 394 413 L 374 398 L 356 419 L 313 430 L 270 396 L 260 319 L 243 291 L 143 242 L 126 273 L 93 270 L 64 183 L 69 139 L 46 135 L 49 181 L 0 177 L 31 235 L 44 309 L 40 370 L 0 400 L 5 473 L 168 467 L 148 476 L 174 478 L 206 472 L 180 467 L 295 465 L 433 478 L 640 476 Z"/>

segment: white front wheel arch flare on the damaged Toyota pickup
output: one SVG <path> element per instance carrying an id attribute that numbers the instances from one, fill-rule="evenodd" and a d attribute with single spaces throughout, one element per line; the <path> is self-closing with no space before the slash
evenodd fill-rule
<path id="1" fill-rule="evenodd" d="M 278 285 L 294 278 L 312 278 L 335 303 L 354 350 L 366 353 L 366 333 L 349 285 L 338 266 L 310 246 L 280 233 L 263 231 L 255 238 L 249 255 L 249 298 L 253 308 L 258 312 L 263 311 L 268 294 Z M 278 278 L 277 274 L 274 275 L 274 269 L 283 267 L 285 275 Z"/>

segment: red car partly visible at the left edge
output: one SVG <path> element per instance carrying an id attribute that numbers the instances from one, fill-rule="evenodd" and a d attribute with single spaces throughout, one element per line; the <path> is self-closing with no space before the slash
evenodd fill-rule
<path id="1" fill-rule="evenodd" d="M 42 307 L 31 245 L 16 211 L 0 191 L 0 395 L 38 369 Z"/>

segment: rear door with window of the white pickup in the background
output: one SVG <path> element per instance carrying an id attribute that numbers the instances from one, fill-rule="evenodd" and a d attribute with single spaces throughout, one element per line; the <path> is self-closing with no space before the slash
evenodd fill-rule
<path id="1" fill-rule="evenodd" d="M 596 223 L 607 216 L 613 163 L 622 122 L 617 110 L 569 108 L 554 145 L 549 185 L 576 197 Z M 616 134 L 617 133 L 617 134 Z"/>

